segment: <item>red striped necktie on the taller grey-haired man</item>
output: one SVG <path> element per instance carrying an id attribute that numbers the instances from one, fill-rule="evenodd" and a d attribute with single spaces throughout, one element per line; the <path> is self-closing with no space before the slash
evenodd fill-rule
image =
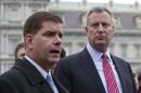
<path id="1" fill-rule="evenodd" d="M 116 79 L 110 65 L 110 62 L 107 59 L 107 56 L 103 54 L 102 58 L 103 58 L 103 70 L 106 80 L 107 91 L 108 93 L 119 93 Z"/>

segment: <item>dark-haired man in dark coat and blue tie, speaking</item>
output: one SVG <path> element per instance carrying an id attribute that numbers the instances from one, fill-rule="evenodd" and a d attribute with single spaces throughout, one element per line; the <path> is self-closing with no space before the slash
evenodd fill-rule
<path id="1" fill-rule="evenodd" d="M 67 93 L 50 69 L 60 59 L 62 19 L 37 12 L 24 26 L 25 56 L 0 76 L 0 93 Z"/>

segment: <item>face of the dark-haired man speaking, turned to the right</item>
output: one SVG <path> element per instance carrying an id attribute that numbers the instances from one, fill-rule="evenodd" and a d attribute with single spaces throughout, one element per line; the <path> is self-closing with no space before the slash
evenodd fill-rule
<path id="1" fill-rule="evenodd" d="M 44 22 L 36 35 L 27 35 L 31 58 L 44 69 L 60 59 L 63 24 Z"/>

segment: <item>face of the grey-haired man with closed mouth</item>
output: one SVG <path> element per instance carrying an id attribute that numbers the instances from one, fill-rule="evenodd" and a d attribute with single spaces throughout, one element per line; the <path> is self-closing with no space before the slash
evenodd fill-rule
<path id="1" fill-rule="evenodd" d="M 112 17 L 106 12 L 93 12 L 88 16 L 86 32 L 92 48 L 105 52 L 114 35 Z"/>

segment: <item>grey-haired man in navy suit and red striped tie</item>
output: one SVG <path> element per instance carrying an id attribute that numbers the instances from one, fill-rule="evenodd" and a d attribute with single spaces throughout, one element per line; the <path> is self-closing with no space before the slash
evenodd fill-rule
<path id="1" fill-rule="evenodd" d="M 57 80 L 70 93 L 137 93 L 129 63 L 107 49 L 114 35 L 112 13 L 105 8 L 92 9 L 86 34 L 89 42 L 85 50 L 59 63 Z"/>

